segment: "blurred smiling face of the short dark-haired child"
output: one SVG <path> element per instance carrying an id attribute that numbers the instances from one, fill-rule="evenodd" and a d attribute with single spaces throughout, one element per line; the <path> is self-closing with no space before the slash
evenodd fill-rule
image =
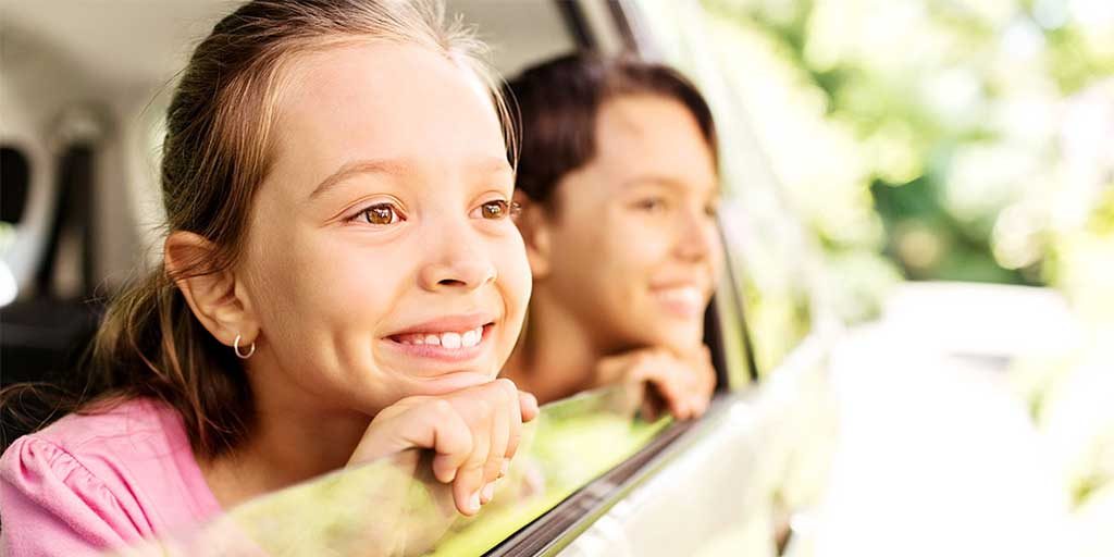
<path id="1" fill-rule="evenodd" d="M 701 342 L 721 265 L 719 177 L 700 125 L 652 95 L 600 106 L 596 154 L 557 186 L 541 278 L 607 350 Z"/>

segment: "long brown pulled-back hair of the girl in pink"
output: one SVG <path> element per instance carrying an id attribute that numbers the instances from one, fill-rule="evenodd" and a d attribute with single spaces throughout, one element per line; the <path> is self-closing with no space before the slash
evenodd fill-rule
<path id="1" fill-rule="evenodd" d="M 272 165 L 284 65 L 300 53 L 360 41 L 417 45 L 473 71 L 491 91 L 508 148 L 515 150 L 482 43 L 459 21 L 447 25 L 440 2 L 243 4 L 194 50 L 167 111 L 163 144 L 167 232 L 199 234 L 216 253 L 173 276 L 159 265 L 113 300 L 91 348 L 89 384 L 80 394 L 33 384 L 0 392 L 9 428 L 35 430 L 70 411 L 146 397 L 182 416 L 201 456 L 227 453 L 245 440 L 255 413 L 245 371 L 232 349 L 197 321 L 175 283 L 236 264 L 252 198 Z M 10 436 L 3 441 L 7 446 Z"/>

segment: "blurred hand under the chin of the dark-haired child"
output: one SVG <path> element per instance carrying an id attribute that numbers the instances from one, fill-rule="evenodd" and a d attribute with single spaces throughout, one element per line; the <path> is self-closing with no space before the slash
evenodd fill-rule
<path id="1" fill-rule="evenodd" d="M 715 390 L 712 352 L 701 344 L 684 355 L 665 349 L 634 350 L 604 358 L 596 364 L 594 387 L 617 382 L 649 383 L 670 413 L 678 420 L 698 418 Z"/>

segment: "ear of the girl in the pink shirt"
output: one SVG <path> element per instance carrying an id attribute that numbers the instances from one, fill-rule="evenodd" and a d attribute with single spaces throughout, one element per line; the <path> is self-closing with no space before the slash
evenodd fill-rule
<path id="1" fill-rule="evenodd" d="M 174 232 L 166 238 L 164 262 L 170 276 L 178 276 L 198 262 L 211 261 L 216 246 L 192 232 Z M 175 284 L 186 297 L 197 321 L 201 321 L 221 343 L 232 346 L 236 336 L 240 345 L 255 342 L 258 322 L 245 295 L 243 283 L 232 270 L 204 274 L 186 274 Z"/>

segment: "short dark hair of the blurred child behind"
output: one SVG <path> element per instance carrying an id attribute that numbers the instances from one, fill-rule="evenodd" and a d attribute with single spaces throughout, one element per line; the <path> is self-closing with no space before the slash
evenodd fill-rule
<path id="1" fill-rule="evenodd" d="M 687 108 L 716 153 L 712 111 L 696 87 L 661 63 L 629 56 L 594 52 L 563 56 L 534 66 L 507 84 L 504 95 L 517 110 L 521 148 L 516 187 L 534 202 L 551 205 L 554 190 L 568 173 L 596 154 L 596 116 L 610 99 L 657 95 Z"/>

